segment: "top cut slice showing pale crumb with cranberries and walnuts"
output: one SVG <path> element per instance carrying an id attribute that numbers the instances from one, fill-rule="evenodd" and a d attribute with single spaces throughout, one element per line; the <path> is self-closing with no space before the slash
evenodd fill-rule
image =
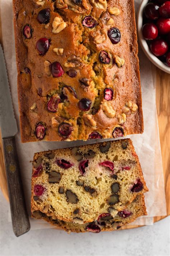
<path id="1" fill-rule="evenodd" d="M 147 192 L 130 139 L 36 153 L 32 174 L 32 212 L 82 223 L 103 213 L 113 217 Z"/>

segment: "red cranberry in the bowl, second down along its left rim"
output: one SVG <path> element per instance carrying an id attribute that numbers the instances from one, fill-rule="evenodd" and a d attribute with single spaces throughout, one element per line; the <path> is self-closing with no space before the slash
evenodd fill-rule
<path id="1" fill-rule="evenodd" d="M 158 29 L 154 23 L 147 23 L 142 28 L 143 37 L 146 40 L 153 40 L 158 35 Z"/>

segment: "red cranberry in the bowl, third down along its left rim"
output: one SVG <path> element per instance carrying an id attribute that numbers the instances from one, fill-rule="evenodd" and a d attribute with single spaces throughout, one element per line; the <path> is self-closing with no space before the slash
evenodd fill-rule
<path id="1" fill-rule="evenodd" d="M 168 50 L 168 44 L 163 39 L 156 39 L 151 42 L 150 48 L 155 56 L 164 55 Z"/>

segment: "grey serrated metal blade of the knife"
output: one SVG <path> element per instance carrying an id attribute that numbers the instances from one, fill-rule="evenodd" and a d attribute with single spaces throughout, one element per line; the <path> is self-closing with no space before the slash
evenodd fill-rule
<path id="1" fill-rule="evenodd" d="M 11 93 L 6 71 L 4 52 L 0 44 L 0 125 L 2 138 L 14 136 L 18 132 Z"/>

